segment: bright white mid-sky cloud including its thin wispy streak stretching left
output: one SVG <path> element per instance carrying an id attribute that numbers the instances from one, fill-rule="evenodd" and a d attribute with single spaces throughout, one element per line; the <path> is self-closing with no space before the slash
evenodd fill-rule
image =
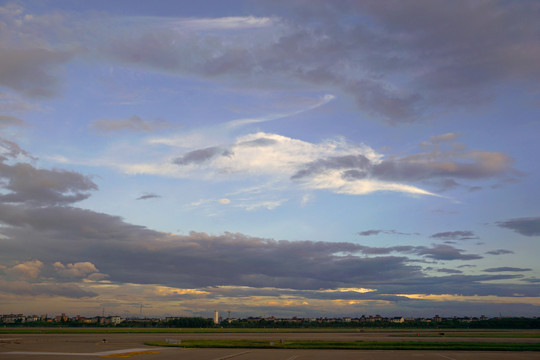
<path id="1" fill-rule="evenodd" d="M 291 137 L 257 132 L 238 136 L 230 145 L 188 151 L 169 158 L 167 162 L 124 163 L 123 171 L 130 174 L 206 179 L 212 181 L 273 182 L 282 189 L 301 187 L 309 190 L 328 190 L 340 194 L 364 195 L 376 191 L 402 192 L 415 195 L 434 195 L 416 186 L 376 178 L 347 179 L 343 169 L 328 169 L 299 181 L 291 178 L 303 167 L 319 159 L 362 157 L 373 164 L 383 156 L 363 144 L 352 144 L 343 138 L 311 143 Z M 189 159 L 189 160 L 188 160 Z M 265 179 L 265 180 L 261 180 Z M 241 186 L 240 186 L 241 187 Z M 284 200 L 257 200 L 244 204 L 247 210 L 273 209 Z"/>

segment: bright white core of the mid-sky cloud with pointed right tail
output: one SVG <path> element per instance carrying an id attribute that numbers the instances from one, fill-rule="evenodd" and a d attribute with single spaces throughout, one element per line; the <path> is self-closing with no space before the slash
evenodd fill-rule
<path id="1" fill-rule="evenodd" d="M 330 156 L 325 156 L 327 154 Z M 323 159 L 315 160 L 323 156 Z M 406 184 L 370 178 L 344 178 L 346 171 L 361 167 L 369 161 L 377 161 L 379 157 L 379 154 L 365 145 L 349 144 L 342 139 L 312 144 L 259 132 L 240 136 L 233 145 L 226 148 L 212 146 L 190 151 L 173 159 L 173 163 L 182 167 L 190 166 L 180 170 L 185 176 L 190 173 L 201 176 L 201 172 L 206 173 L 206 176 L 213 174 L 214 179 L 238 176 L 236 174 L 265 175 L 274 181 L 285 183 L 295 180 L 306 188 L 336 193 L 360 195 L 375 191 L 397 191 L 431 194 Z"/>

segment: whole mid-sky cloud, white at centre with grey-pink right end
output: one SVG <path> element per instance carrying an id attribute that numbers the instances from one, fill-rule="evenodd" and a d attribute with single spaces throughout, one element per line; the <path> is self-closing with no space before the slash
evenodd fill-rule
<path id="1" fill-rule="evenodd" d="M 172 151 L 188 149 L 180 156 L 162 155 L 146 163 L 133 163 L 131 158 L 109 160 L 106 165 L 130 174 L 212 181 L 241 179 L 253 182 L 249 187 L 264 181 L 282 190 L 300 188 L 348 195 L 389 191 L 439 196 L 430 188 L 443 191 L 468 187 L 454 179 L 480 182 L 515 172 L 507 155 L 467 151 L 452 142 L 457 138 L 455 134 L 443 134 L 440 139 L 436 136 L 421 144 L 421 152 L 396 157 L 384 156 L 365 144 L 339 137 L 311 143 L 257 132 L 230 140 L 227 136 L 213 139 L 213 133 L 208 135 L 207 130 L 153 138 L 146 143 L 168 145 Z M 207 146 L 198 147 L 199 142 Z"/>

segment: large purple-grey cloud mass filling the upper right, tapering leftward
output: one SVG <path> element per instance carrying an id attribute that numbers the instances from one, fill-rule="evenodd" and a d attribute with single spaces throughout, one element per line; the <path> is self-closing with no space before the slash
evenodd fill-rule
<path id="1" fill-rule="evenodd" d="M 207 37 L 146 24 L 120 29 L 103 51 L 124 63 L 246 86 L 272 77 L 337 88 L 391 124 L 418 121 L 434 106 L 490 101 L 507 79 L 533 87 L 540 79 L 534 2 L 315 1 L 266 4 L 255 13 L 276 15 L 269 29 L 279 31 Z M 394 75 L 401 83 L 392 83 Z"/>

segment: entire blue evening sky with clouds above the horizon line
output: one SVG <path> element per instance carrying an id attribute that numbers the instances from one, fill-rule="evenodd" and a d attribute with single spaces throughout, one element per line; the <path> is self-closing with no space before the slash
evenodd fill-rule
<path id="1" fill-rule="evenodd" d="M 537 1 L 0 1 L 0 313 L 540 315 Z"/>

